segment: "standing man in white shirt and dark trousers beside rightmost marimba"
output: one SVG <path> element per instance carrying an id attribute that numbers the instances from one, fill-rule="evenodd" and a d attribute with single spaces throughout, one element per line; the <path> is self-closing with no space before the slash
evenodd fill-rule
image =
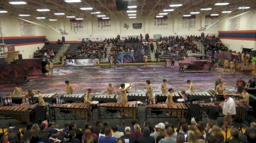
<path id="1" fill-rule="evenodd" d="M 236 115 L 236 103 L 234 100 L 229 96 L 229 94 L 224 94 L 224 104 L 222 107 L 222 114 L 224 116 L 224 123 L 223 123 L 223 129 L 225 129 L 226 126 L 233 127 L 232 126 L 232 115 Z"/>

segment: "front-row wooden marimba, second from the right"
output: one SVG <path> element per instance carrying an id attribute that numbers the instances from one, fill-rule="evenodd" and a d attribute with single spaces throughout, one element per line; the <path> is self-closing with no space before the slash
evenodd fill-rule
<path id="1" fill-rule="evenodd" d="M 169 116 L 160 116 L 164 112 L 171 113 L 170 117 L 186 118 L 189 120 L 189 104 L 188 103 L 170 103 L 170 104 L 147 104 L 147 118 L 170 118 Z"/>

